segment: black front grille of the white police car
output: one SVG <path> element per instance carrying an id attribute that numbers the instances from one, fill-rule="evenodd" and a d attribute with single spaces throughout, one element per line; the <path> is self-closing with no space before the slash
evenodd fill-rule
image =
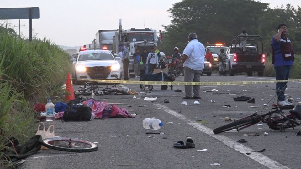
<path id="1" fill-rule="evenodd" d="M 87 68 L 87 74 L 92 79 L 104 79 L 107 78 L 108 75 L 111 73 L 111 67 L 110 66 L 94 66 Z"/>

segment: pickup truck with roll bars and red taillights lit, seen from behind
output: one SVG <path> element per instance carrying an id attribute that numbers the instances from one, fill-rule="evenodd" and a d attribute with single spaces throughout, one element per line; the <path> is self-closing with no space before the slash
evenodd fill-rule
<path id="1" fill-rule="evenodd" d="M 239 48 L 240 38 L 247 37 L 246 51 L 243 52 Z M 251 39 L 252 38 L 252 39 Z M 261 48 L 258 48 L 258 41 L 261 40 Z M 246 72 L 248 76 L 252 76 L 253 72 L 257 72 L 258 76 L 263 76 L 265 69 L 266 54 L 263 52 L 263 43 L 261 36 L 248 35 L 237 36 L 232 40 L 231 46 L 226 50 L 226 68 L 225 71 L 233 76 L 235 73 Z"/>

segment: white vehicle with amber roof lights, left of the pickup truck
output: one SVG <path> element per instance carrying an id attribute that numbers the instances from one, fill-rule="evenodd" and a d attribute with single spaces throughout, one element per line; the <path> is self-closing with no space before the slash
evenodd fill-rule
<path id="1" fill-rule="evenodd" d="M 226 43 L 216 43 L 216 44 L 209 44 L 207 42 L 206 46 L 205 46 L 205 55 L 206 55 L 206 51 L 207 49 L 210 50 L 210 52 L 212 53 L 213 56 L 213 62 L 212 62 L 212 70 L 219 70 L 219 58 L 218 58 L 218 54 L 220 53 L 220 49 L 226 49 L 228 48 L 227 46 L 225 46 Z"/>

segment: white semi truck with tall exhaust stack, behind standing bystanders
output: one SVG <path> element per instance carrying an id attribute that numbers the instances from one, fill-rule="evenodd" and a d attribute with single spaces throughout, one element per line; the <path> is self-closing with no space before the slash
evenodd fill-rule
<path id="1" fill-rule="evenodd" d="M 124 45 L 129 49 L 129 72 L 134 72 L 134 60 L 133 54 L 136 49 L 140 49 L 140 53 L 143 52 L 143 49 L 147 49 L 147 52 L 150 52 L 151 47 L 157 45 L 157 31 L 150 28 L 136 29 L 131 28 L 129 30 L 122 29 L 121 19 L 119 19 L 119 30 L 115 32 L 113 37 L 113 52 L 119 52 L 119 45 Z M 145 64 L 140 67 L 141 72 L 145 70 Z"/>

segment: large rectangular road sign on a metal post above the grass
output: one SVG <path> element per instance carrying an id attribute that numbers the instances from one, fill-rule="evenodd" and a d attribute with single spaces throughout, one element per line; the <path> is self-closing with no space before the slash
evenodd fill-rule
<path id="1" fill-rule="evenodd" d="M 32 19 L 40 18 L 40 8 L 0 8 L 0 19 L 29 19 L 29 40 L 32 41 Z"/>

